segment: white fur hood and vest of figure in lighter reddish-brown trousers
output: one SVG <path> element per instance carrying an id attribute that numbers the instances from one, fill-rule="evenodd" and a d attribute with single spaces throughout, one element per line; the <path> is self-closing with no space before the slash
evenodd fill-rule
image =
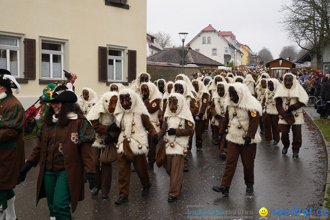
<path id="1" fill-rule="evenodd" d="M 167 118 L 167 129 L 184 129 L 185 120 L 188 120 L 194 126 L 194 119 L 190 113 L 189 106 L 185 104 L 185 97 L 179 93 L 172 93 L 169 97 L 178 99 L 178 109 L 175 113 L 172 113 L 170 108 L 166 108 L 164 117 Z M 180 123 L 182 126 L 179 126 Z M 189 136 L 177 137 L 176 135 L 168 135 L 166 132 L 164 140 L 168 140 L 165 143 L 166 154 L 185 155 L 183 154 L 183 150 L 187 148 Z M 170 146 L 171 143 L 174 143 L 174 147 Z"/>

